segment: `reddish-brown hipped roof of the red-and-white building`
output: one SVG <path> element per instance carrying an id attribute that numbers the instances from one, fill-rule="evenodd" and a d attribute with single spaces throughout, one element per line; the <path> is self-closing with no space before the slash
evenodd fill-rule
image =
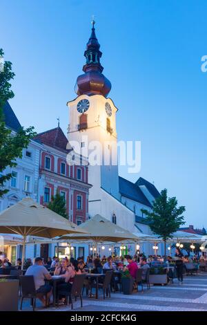
<path id="1" fill-rule="evenodd" d="M 68 152 L 68 149 L 66 149 L 68 139 L 60 127 L 55 127 L 55 129 L 50 129 L 48 131 L 39 133 L 34 137 L 33 140 L 37 140 L 52 148 Z"/>

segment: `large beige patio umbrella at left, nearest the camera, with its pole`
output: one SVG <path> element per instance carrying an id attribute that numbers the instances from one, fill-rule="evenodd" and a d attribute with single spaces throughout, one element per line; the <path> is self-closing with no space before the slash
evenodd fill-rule
<path id="1" fill-rule="evenodd" d="M 23 236 L 23 262 L 28 235 L 53 238 L 63 234 L 86 233 L 86 230 L 79 229 L 75 223 L 40 205 L 32 198 L 23 198 L 17 204 L 1 212 L 0 232 Z"/>

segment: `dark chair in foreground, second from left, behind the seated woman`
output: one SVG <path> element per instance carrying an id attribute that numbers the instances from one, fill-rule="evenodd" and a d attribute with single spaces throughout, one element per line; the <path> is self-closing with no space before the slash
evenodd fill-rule
<path id="1" fill-rule="evenodd" d="M 82 289 L 83 289 L 83 282 L 86 275 L 75 275 L 74 281 L 72 283 L 71 290 L 58 290 L 58 298 L 60 295 L 63 295 L 66 297 L 66 305 L 68 304 L 68 297 L 69 297 L 69 304 L 71 304 L 71 309 L 73 309 L 72 304 L 72 297 L 75 297 L 75 301 L 77 300 L 77 297 L 80 297 L 81 299 L 81 307 L 83 307 L 83 299 L 82 299 Z"/>

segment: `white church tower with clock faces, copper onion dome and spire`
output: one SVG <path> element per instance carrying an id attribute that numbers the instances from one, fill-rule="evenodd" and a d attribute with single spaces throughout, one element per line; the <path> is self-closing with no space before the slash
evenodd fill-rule
<path id="1" fill-rule="evenodd" d="M 86 45 L 86 64 L 83 74 L 77 77 L 77 98 L 68 102 L 70 124 L 68 141 L 77 141 L 83 156 L 89 157 L 88 183 L 92 184 L 89 196 L 90 214 L 101 213 L 101 191 L 119 199 L 117 165 L 117 107 L 108 97 L 110 81 L 103 75 L 100 44 L 95 35 L 95 21 Z M 73 145 L 72 145 L 73 147 Z M 88 151 L 86 151 L 88 149 Z M 99 150 L 97 164 L 90 161 Z M 84 154 L 85 153 L 85 154 Z M 97 157 L 96 157 L 97 158 Z"/>

